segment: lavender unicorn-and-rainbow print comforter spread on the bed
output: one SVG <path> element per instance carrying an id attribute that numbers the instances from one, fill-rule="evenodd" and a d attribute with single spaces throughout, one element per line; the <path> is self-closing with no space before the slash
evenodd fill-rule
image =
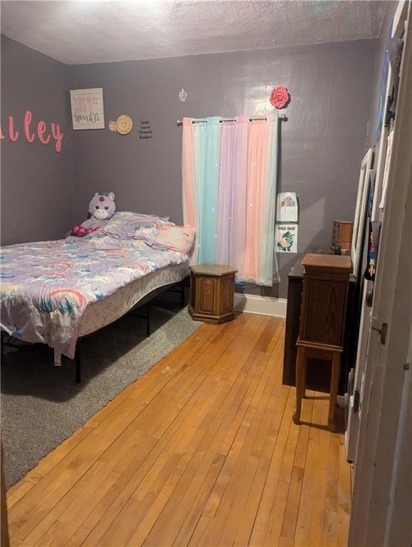
<path id="1" fill-rule="evenodd" d="M 73 359 L 86 306 L 146 273 L 187 260 L 168 249 L 122 245 L 96 235 L 3 247 L 1 329 Z"/>

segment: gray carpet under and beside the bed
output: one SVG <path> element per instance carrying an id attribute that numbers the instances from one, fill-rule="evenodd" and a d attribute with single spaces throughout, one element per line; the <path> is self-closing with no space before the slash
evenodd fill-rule
<path id="1" fill-rule="evenodd" d="M 125 316 L 82 343 L 82 382 L 74 363 L 43 346 L 6 354 L 1 366 L 1 435 L 11 486 L 130 383 L 188 338 L 202 323 L 187 308 L 157 302 L 152 334 L 145 320 Z"/>

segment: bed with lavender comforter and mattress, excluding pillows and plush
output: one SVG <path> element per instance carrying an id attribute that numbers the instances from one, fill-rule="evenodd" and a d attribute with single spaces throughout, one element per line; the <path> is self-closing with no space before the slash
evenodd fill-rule
<path id="1" fill-rule="evenodd" d="M 3 247 L 1 330 L 76 357 L 78 341 L 177 283 L 188 273 L 183 252 L 94 233 Z M 76 349 L 77 348 L 77 349 Z"/>

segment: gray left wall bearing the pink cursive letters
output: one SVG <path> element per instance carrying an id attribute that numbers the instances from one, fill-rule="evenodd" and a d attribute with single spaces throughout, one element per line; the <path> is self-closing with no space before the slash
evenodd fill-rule
<path id="1" fill-rule="evenodd" d="M 73 221 L 73 158 L 68 104 L 68 68 L 23 44 L 1 36 L 1 128 L 14 116 L 19 140 L 1 141 L 1 244 L 54 239 Z M 62 150 L 24 137 L 26 110 L 38 120 L 58 123 Z M 36 123 L 36 125 L 34 125 Z"/>

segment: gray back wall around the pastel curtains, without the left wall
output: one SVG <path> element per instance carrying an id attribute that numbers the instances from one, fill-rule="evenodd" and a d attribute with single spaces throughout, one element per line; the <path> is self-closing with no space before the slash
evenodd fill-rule
<path id="1" fill-rule="evenodd" d="M 292 102 L 282 125 L 282 191 L 299 197 L 299 251 L 331 243 L 334 219 L 354 217 L 359 165 L 371 113 L 378 40 L 278 50 L 71 66 L 72 88 L 103 87 L 106 125 L 133 118 L 127 136 L 109 130 L 73 132 L 74 212 L 84 218 L 96 190 L 110 189 L 119 209 L 170 214 L 182 221 L 183 116 L 261 113 L 274 85 Z M 180 103 L 177 93 L 189 93 Z M 152 140 L 139 140 L 140 120 Z M 279 256 L 282 282 L 247 292 L 285 297 L 296 255 Z"/>

